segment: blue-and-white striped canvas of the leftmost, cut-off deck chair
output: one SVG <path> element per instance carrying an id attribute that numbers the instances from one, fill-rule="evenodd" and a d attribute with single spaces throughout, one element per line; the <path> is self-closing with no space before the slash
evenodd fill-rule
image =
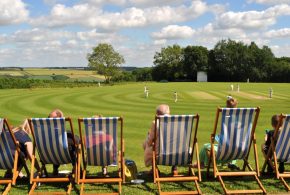
<path id="1" fill-rule="evenodd" d="M 2 118 L 0 118 L 0 129 L 0 169 L 12 169 L 14 158 L 6 137 L 4 119 Z"/>

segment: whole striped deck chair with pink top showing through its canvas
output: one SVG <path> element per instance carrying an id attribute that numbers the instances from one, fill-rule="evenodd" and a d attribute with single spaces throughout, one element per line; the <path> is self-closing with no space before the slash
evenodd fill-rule
<path id="1" fill-rule="evenodd" d="M 80 118 L 79 133 L 81 153 L 78 153 L 78 184 L 81 184 L 81 194 L 85 183 L 118 183 L 118 193 L 122 191 L 124 180 L 124 141 L 122 117 Z M 83 130 L 84 129 L 84 132 Z M 120 142 L 118 142 L 120 141 Z M 81 173 L 81 160 L 83 170 Z M 117 166 L 118 175 L 89 175 L 88 166 Z"/>

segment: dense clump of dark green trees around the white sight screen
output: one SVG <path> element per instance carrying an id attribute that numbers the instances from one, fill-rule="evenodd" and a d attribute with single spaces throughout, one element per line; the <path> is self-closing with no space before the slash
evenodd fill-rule
<path id="1" fill-rule="evenodd" d="M 234 40 L 221 40 L 208 51 L 202 46 L 162 48 L 154 56 L 152 77 L 156 81 L 196 81 L 197 71 L 209 81 L 290 82 L 290 58 L 276 59 L 268 46 L 259 48 Z"/>

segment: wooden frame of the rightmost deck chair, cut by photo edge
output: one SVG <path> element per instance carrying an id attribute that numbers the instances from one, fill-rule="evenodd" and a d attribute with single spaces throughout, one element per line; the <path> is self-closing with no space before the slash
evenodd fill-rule
<path id="1" fill-rule="evenodd" d="M 262 172 L 264 172 L 266 165 L 269 162 L 270 165 L 272 166 L 272 168 L 275 170 L 275 174 L 276 174 L 277 179 L 279 179 L 283 183 L 283 185 L 285 186 L 287 191 L 290 191 L 290 187 L 287 184 L 287 182 L 285 181 L 285 178 L 290 178 L 290 172 L 284 172 L 284 173 L 279 172 L 279 169 L 278 169 L 279 160 L 278 160 L 278 158 L 279 158 L 279 155 L 286 155 L 283 158 L 290 160 L 289 141 L 283 142 L 283 139 L 281 139 L 281 140 L 278 140 L 278 139 L 279 139 L 279 135 L 281 135 L 285 139 L 289 140 L 289 138 L 290 138 L 290 129 L 289 128 L 290 128 L 290 115 L 289 114 L 288 115 L 281 114 L 279 116 L 278 124 L 275 127 L 273 137 L 271 138 L 270 148 L 269 148 L 268 154 L 266 155 L 265 162 L 264 162 L 263 167 L 262 167 Z M 282 149 L 285 148 L 285 150 L 283 152 L 281 152 L 279 150 L 280 148 L 277 147 L 278 144 L 279 145 L 281 144 L 283 146 Z M 273 164 L 272 160 L 274 161 L 274 164 Z"/>

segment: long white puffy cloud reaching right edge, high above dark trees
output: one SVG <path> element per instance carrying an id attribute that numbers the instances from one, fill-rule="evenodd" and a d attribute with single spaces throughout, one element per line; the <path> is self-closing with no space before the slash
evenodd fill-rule
<path id="1" fill-rule="evenodd" d="M 290 15 L 290 6 L 276 5 L 264 11 L 226 12 L 218 16 L 220 28 L 262 29 L 276 23 L 277 17 Z"/>

